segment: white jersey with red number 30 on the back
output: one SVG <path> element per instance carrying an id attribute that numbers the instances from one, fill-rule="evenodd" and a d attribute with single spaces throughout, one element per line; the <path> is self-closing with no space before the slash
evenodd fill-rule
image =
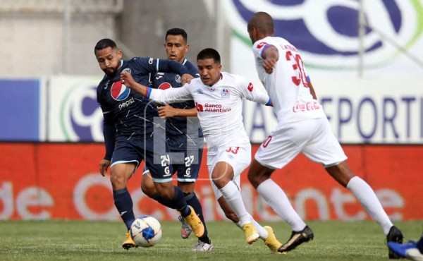
<path id="1" fill-rule="evenodd" d="M 268 74 L 262 67 L 262 52 L 266 47 L 278 49 L 279 59 L 273 73 Z M 309 77 L 298 50 L 281 37 L 265 37 L 252 46 L 257 73 L 269 97 L 279 124 L 325 117 L 317 100 L 310 94 Z"/>

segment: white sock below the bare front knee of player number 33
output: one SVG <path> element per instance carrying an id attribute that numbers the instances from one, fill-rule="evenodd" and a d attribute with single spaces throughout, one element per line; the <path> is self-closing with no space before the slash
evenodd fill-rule
<path id="1" fill-rule="evenodd" d="M 221 193 L 223 194 L 223 198 L 225 198 L 228 205 L 232 208 L 233 212 L 235 212 L 235 214 L 240 219 L 241 226 L 252 222 L 250 213 L 248 213 L 245 209 L 240 190 L 238 190 L 238 187 L 235 185 L 235 183 L 233 183 L 233 181 L 229 181 L 226 186 L 221 188 Z"/>

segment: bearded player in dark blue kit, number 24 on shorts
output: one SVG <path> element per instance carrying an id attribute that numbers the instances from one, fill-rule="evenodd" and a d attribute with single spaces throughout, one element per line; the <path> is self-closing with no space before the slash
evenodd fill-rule
<path id="1" fill-rule="evenodd" d="M 160 131 L 157 109 L 154 104 L 137 92 L 122 84 L 120 75 L 130 73 L 138 83 L 148 85 L 149 73 L 166 71 L 182 75 L 183 81 L 192 78 L 185 66 L 167 59 L 134 57 L 122 60 L 122 51 L 110 39 L 97 42 L 94 47 L 97 62 L 104 73 L 104 78 L 97 87 L 97 102 L 104 116 L 104 144 L 106 154 L 99 164 L 102 176 L 111 168 L 111 186 L 116 209 L 121 214 L 128 229 L 122 247 L 135 247 L 129 229 L 135 220 L 133 201 L 126 188 L 129 178 L 134 174 L 142 160 L 151 171 L 153 178 L 165 180 L 172 176 L 168 148 L 164 130 Z M 161 128 L 160 128 L 161 127 Z M 154 133 L 154 135 L 153 135 Z M 154 182 L 157 200 L 175 208 L 190 224 L 195 236 L 204 234 L 204 225 L 195 210 L 187 205 L 183 191 L 171 182 Z"/>

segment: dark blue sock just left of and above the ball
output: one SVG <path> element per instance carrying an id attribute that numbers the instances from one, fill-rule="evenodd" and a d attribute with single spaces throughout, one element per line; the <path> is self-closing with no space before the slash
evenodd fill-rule
<path id="1" fill-rule="evenodd" d="M 113 200 L 123 222 L 125 222 L 126 228 L 130 230 L 130 225 L 135 221 L 135 215 L 133 211 L 133 201 L 130 198 L 130 194 L 127 188 L 113 191 Z"/>

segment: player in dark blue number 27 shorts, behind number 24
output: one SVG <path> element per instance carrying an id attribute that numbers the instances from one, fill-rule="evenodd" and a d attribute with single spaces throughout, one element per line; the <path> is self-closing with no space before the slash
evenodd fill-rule
<path id="1" fill-rule="evenodd" d="M 190 48 L 187 41 L 188 35 L 185 30 L 172 28 L 166 32 L 164 49 L 169 60 L 183 64 L 190 75 L 198 77 L 197 67 L 185 59 L 185 54 Z M 150 83 L 152 87 L 157 89 L 182 86 L 180 75 L 177 73 L 158 72 L 152 75 Z M 214 247 L 208 237 L 202 206 L 194 192 L 195 181 L 197 181 L 200 172 L 204 145 L 204 136 L 202 135 L 200 121 L 197 118 L 195 103 L 186 101 L 160 104 L 158 109 L 159 116 L 166 118 L 166 141 L 171 152 L 173 171 L 177 173 L 178 187 L 183 190 L 188 205 L 195 210 L 204 224 L 204 235 L 199 238 L 192 250 L 195 252 L 212 251 Z M 152 178 L 147 171 L 142 176 L 142 191 L 151 198 L 155 197 Z M 179 217 L 179 220 L 182 222 L 181 236 L 184 239 L 188 238 L 191 228 L 185 219 Z"/>

